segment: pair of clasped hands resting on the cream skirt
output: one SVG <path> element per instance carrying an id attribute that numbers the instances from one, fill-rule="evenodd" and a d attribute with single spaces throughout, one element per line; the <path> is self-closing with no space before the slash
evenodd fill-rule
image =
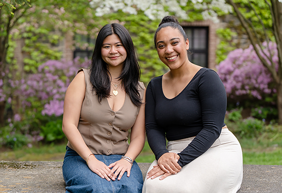
<path id="1" fill-rule="evenodd" d="M 154 179 L 162 175 L 159 179 L 163 180 L 171 174 L 177 174 L 182 167 L 177 163 L 180 156 L 177 153 L 164 153 L 159 159 L 158 164 L 153 166 L 147 174 L 147 179 Z"/>

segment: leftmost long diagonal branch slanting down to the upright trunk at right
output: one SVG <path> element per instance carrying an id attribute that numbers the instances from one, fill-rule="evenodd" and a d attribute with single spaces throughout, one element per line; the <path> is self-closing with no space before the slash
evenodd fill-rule
<path id="1" fill-rule="evenodd" d="M 257 56 L 259 57 L 259 59 L 261 60 L 261 62 L 263 63 L 263 65 L 271 72 L 275 82 L 279 83 L 279 78 L 278 78 L 278 74 L 276 72 L 276 69 L 275 69 L 275 66 L 271 66 L 268 64 L 268 62 L 261 56 L 261 54 L 259 53 L 259 49 L 256 47 L 256 41 L 255 41 L 255 38 L 254 36 L 252 35 L 252 32 L 251 30 L 249 29 L 248 27 L 248 24 L 245 22 L 245 18 L 244 16 L 241 14 L 241 12 L 238 10 L 238 7 L 237 5 L 233 2 L 233 0 L 226 0 L 227 3 L 229 3 L 231 6 L 233 6 L 236 14 L 237 14 L 237 17 L 240 21 L 240 23 L 242 24 L 243 28 L 246 30 L 247 32 L 247 35 L 251 41 L 251 44 L 253 45 L 253 48 L 257 54 Z"/>

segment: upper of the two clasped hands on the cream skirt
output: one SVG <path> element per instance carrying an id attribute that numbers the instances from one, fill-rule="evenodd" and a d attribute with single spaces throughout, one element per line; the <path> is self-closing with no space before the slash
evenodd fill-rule
<path id="1" fill-rule="evenodd" d="M 177 163 L 179 158 L 180 156 L 177 153 L 164 153 L 158 159 L 158 165 L 166 173 L 177 174 L 182 169 L 182 167 Z"/>

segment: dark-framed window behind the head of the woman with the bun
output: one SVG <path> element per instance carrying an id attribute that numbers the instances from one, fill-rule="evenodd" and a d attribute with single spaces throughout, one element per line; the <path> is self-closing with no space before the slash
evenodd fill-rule
<path id="1" fill-rule="evenodd" d="M 189 40 L 189 60 L 202 67 L 208 67 L 208 27 L 183 27 Z"/>

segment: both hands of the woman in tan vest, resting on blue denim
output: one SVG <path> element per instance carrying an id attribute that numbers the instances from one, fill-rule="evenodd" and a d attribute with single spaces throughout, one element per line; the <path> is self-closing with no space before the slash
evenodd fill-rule
<path id="1" fill-rule="evenodd" d="M 120 159 L 114 163 L 111 163 L 109 166 L 95 159 L 89 161 L 88 166 L 91 169 L 91 171 L 96 173 L 101 178 L 105 178 L 107 181 L 110 180 L 114 181 L 116 180 L 117 176 L 118 176 L 118 180 L 120 180 L 125 172 L 127 172 L 127 177 L 129 177 L 130 170 L 132 167 L 131 163 L 129 163 L 125 159 Z"/>

